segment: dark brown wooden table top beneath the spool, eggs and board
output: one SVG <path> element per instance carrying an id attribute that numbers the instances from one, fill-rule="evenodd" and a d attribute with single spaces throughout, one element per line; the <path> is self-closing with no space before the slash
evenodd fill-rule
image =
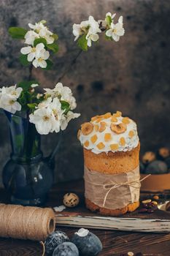
<path id="1" fill-rule="evenodd" d="M 55 205 L 55 195 L 58 191 L 81 192 L 82 181 L 72 181 L 57 184 L 50 192 L 47 206 Z M 0 189 L 0 202 L 8 203 L 7 194 Z M 56 227 L 63 230 L 69 237 L 77 230 L 73 227 Z M 169 233 L 134 233 L 111 230 L 92 230 L 104 246 L 98 256 L 125 256 L 128 252 L 134 252 L 136 256 L 170 256 L 170 234 Z M 12 238 L 0 238 L 0 256 L 41 256 L 42 245 L 34 241 L 22 241 Z M 81 256 L 81 255 L 80 255 Z"/>

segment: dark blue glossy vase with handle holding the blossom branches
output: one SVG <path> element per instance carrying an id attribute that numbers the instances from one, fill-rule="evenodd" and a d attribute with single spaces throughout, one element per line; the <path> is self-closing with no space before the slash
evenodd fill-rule
<path id="1" fill-rule="evenodd" d="M 45 203 L 53 185 L 54 156 L 43 157 L 41 136 L 28 118 L 5 111 L 9 122 L 12 153 L 3 169 L 3 183 L 11 202 L 23 206 Z"/>

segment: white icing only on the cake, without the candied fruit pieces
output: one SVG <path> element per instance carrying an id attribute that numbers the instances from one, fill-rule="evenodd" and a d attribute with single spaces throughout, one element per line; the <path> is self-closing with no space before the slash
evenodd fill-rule
<path id="1" fill-rule="evenodd" d="M 115 114 L 116 115 L 116 114 Z M 100 118 L 100 117 L 99 117 Z M 106 129 L 104 129 L 103 132 L 96 131 L 95 128 L 93 127 L 93 131 L 90 132 L 90 134 L 85 135 L 82 133 L 82 130 L 80 130 L 80 142 L 84 148 L 91 150 L 95 154 L 99 154 L 101 152 L 108 153 L 109 151 L 116 152 L 116 151 L 131 151 L 133 148 L 136 148 L 139 144 L 139 137 L 137 133 L 137 127 L 136 123 L 128 118 L 129 123 L 125 124 L 126 130 L 123 133 L 117 134 L 116 132 L 112 132 L 110 129 L 111 124 L 120 124 L 123 122 L 123 117 L 122 116 L 116 116 L 117 121 L 112 121 L 112 116 L 109 118 L 102 118 L 101 121 L 98 122 L 98 120 L 90 121 L 91 124 L 96 125 L 98 124 L 100 127 L 101 122 L 106 123 Z M 129 132 L 132 132 L 134 135 L 131 137 L 129 135 Z M 106 141 L 104 139 L 104 136 L 106 133 L 111 134 L 111 140 Z M 96 142 L 92 142 L 90 138 L 96 135 L 97 140 Z M 125 145 L 121 145 L 120 143 L 120 138 L 125 139 Z M 85 142 L 89 142 L 89 145 L 87 146 Z M 104 148 L 98 148 L 98 143 L 103 143 Z M 117 148 L 111 149 L 112 144 L 117 144 Z"/>

